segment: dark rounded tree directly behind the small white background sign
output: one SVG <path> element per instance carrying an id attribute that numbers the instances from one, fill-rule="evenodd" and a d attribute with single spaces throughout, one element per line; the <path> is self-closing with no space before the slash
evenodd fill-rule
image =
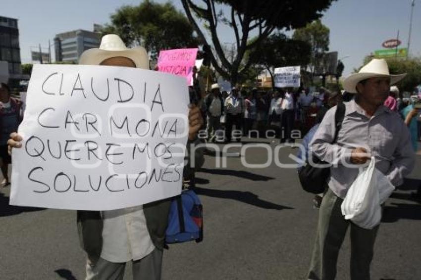
<path id="1" fill-rule="evenodd" d="M 247 53 L 255 65 L 263 65 L 272 78 L 277 67 L 301 66 L 307 67 L 310 62 L 311 46 L 304 41 L 290 39 L 282 33 L 274 33 L 258 47 Z"/>

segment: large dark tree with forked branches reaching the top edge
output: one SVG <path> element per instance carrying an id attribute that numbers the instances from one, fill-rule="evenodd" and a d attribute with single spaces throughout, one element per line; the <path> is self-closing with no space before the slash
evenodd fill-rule
<path id="1" fill-rule="evenodd" d="M 247 50 L 260 45 L 275 29 L 300 28 L 320 18 L 332 1 L 181 0 L 204 49 L 210 53 L 213 67 L 231 84 L 236 84 L 238 77 L 253 63 L 245 59 Z M 225 14 L 221 7 L 228 7 L 230 12 Z M 227 25 L 234 33 L 236 55 L 232 61 L 227 58 L 218 37 L 220 24 Z M 249 37 L 254 34 L 258 36 L 250 42 Z"/>

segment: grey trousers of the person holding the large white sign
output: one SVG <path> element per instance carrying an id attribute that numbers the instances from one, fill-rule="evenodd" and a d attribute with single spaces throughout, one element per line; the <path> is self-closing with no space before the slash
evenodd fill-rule
<path id="1" fill-rule="evenodd" d="M 133 280 L 160 280 L 162 254 L 155 249 L 143 259 L 132 261 Z M 112 263 L 100 258 L 95 265 L 86 264 L 86 280 L 123 280 L 126 263 Z"/>

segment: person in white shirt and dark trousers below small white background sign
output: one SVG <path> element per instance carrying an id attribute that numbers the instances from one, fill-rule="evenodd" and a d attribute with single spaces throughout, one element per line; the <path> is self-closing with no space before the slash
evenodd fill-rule
<path id="1" fill-rule="evenodd" d="M 292 129 L 294 126 L 295 119 L 295 101 L 294 93 L 292 91 L 286 91 L 284 93 L 281 109 L 282 109 L 282 131 L 281 131 L 281 143 L 288 142 L 293 143 L 294 139 L 291 137 Z"/>

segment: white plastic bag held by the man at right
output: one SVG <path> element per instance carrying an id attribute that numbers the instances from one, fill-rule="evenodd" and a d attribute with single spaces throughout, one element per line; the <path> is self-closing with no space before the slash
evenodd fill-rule
<path id="1" fill-rule="evenodd" d="M 345 219 L 364 229 L 372 229 L 381 220 L 381 206 L 395 189 L 390 181 L 375 168 L 375 159 L 371 157 L 366 169 L 352 183 L 342 202 L 341 209 Z"/>

